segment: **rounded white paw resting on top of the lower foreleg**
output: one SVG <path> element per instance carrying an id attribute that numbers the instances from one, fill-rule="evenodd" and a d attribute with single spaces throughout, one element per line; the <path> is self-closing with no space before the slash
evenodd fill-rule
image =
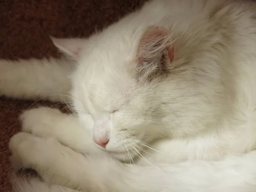
<path id="1" fill-rule="evenodd" d="M 20 115 L 22 131 L 38 137 L 51 137 L 54 133 L 55 122 L 61 121 L 60 117 L 67 114 L 54 108 L 34 108 Z"/>

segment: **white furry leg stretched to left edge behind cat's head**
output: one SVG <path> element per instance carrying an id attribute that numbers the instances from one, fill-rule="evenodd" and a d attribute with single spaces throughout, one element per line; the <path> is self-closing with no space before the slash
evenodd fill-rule
<path id="1" fill-rule="evenodd" d="M 68 60 L 56 58 L 19 61 L 0 59 L 0 95 L 65 101 L 70 89 L 72 65 Z"/>

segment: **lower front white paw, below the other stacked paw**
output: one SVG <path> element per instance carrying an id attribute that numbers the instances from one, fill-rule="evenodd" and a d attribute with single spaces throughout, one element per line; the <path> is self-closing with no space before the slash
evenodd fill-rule
<path id="1" fill-rule="evenodd" d="M 13 169 L 15 171 L 21 168 L 36 169 L 44 166 L 45 163 L 50 163 L 52 148 L 57 145 L 56 140 L 46 140 L 28 133 L 20 132 L 14 135 L 9 142 Z"/>

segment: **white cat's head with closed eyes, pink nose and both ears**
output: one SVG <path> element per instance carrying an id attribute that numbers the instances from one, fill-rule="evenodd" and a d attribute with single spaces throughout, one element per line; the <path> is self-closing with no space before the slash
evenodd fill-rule
<path id="1" fill-rule="evenodd" d="M 128 151 L 134 156 L 151 140 L 170 137 L 171 128 L 189 121 L 190 117 L 182 119 L 189 89 L 183 89 L 186 83 L 180 75 L 170 77 L 175 66 L 170 37 L 166 29 L 150 27 L 134 53 L 125 55 L 117 50 L 121 46 L 115 52 L 113 47 L 97 47 L 87 40 L 54 40 L 79 63 L 72 78 L 81 123 L 91 130 L 95 143 L 120 159 L 128 159 Z M 93 126 L 87 125 L 89 118 Z"/>

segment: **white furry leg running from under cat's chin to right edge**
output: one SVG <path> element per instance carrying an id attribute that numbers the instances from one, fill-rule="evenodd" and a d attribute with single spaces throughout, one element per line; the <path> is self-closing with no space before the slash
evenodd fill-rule
<path id="1" fill-rule="evenodd" d="M 249 123 L 248 126 L 255 125 Z M 138 148 L 144 148 L 143 157 L 151 163 L 179 163 L 186 160 L 221 160 L 231 154 L 253 150 L 250 146 L 256 141 L 256 134 L 250 129 L 226 131 L 209 130 L 204 134 L 187 139 L 173 138 L 156 140 L 153 143 L 138 141 Z M 244 131 L 241 131 L 244 130 Z M 241 144 L 242 143 L 242 144 Z M 146 151 L 146 152 L 145 152 Z M 148 162 L 139 159 L 140 165 Z"/>

